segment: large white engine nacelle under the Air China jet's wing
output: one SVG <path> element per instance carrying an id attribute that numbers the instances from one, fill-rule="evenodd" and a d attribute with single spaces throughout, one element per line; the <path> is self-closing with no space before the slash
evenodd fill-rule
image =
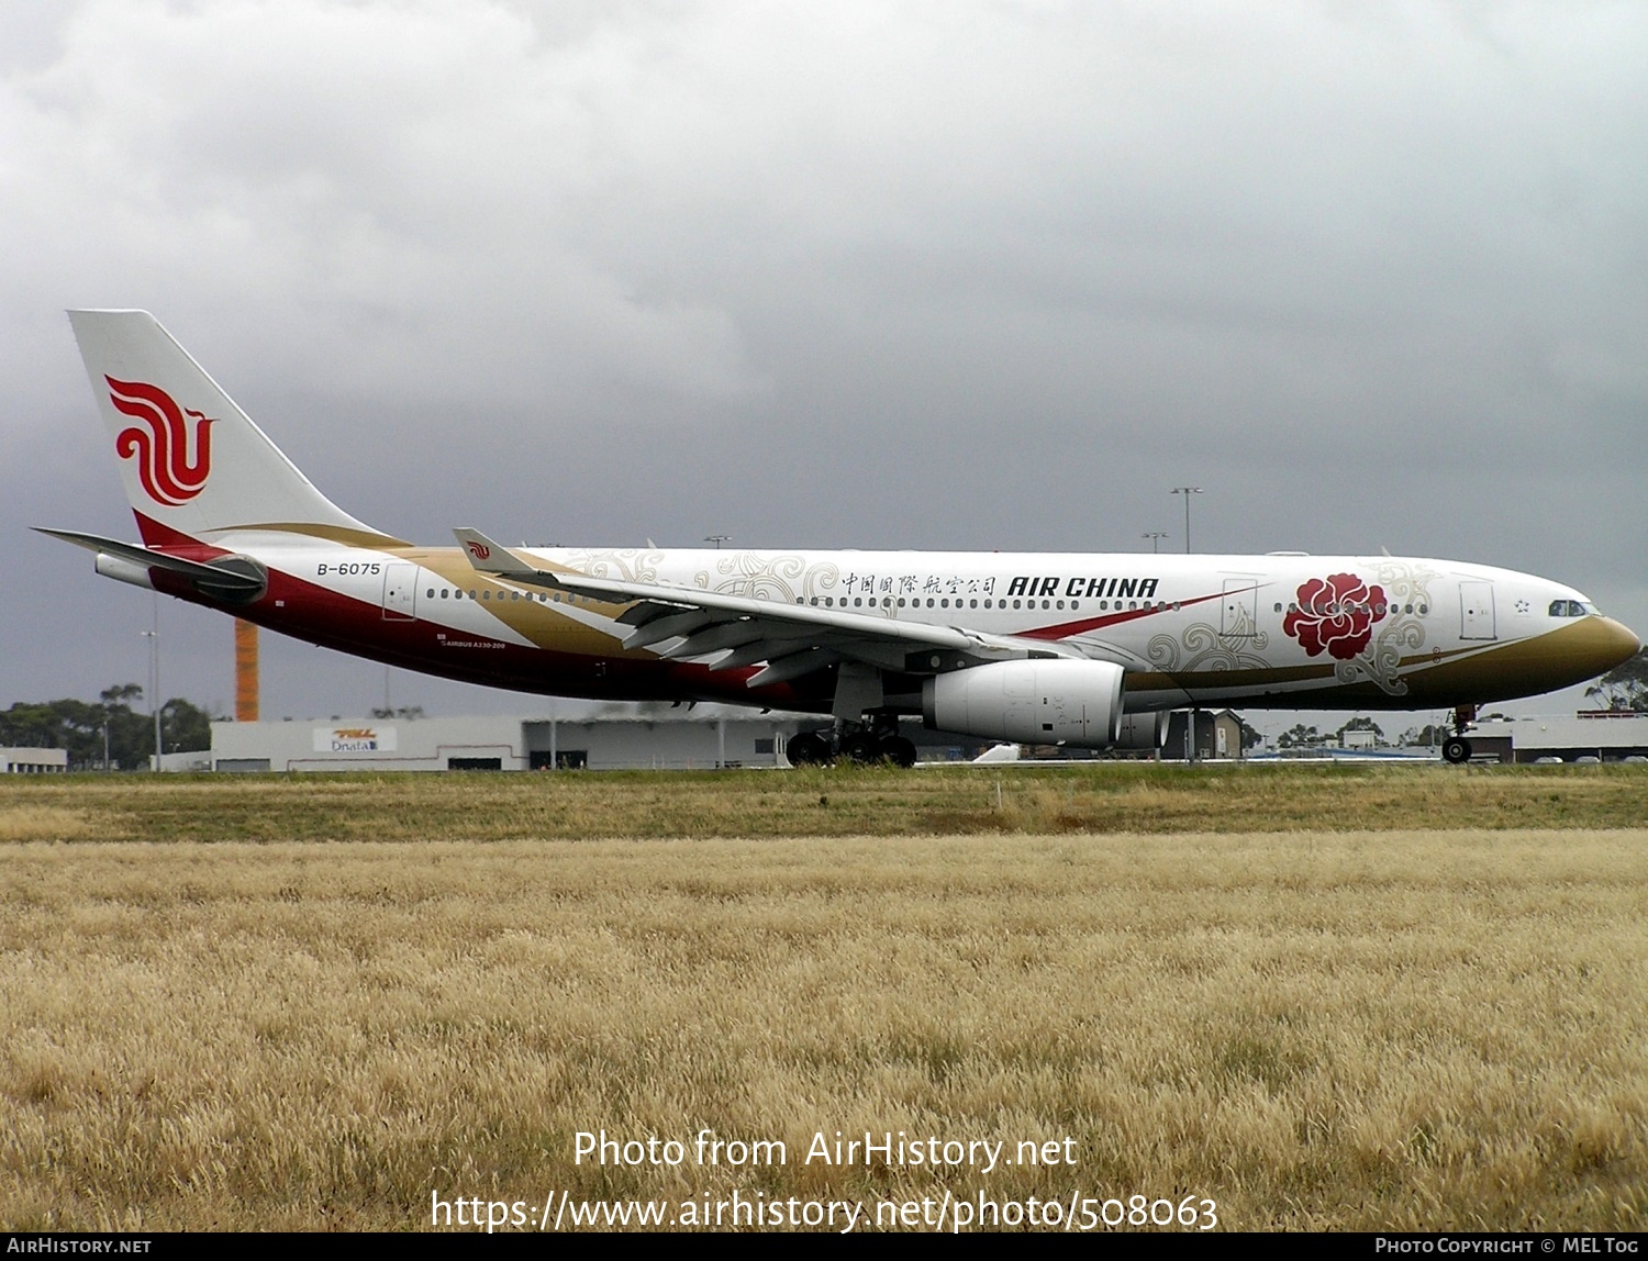
<path id="1" fill-rule="evenodd" d="M 1122 720 L 1122 668 L 1109 661 L 994 661 L 921 684 L 933 730 L 1025 745 L 1109 748 Z"/>

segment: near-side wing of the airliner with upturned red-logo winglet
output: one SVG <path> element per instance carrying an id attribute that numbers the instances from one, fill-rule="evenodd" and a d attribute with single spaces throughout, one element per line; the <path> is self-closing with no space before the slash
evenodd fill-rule
<path id="1" fill-rule="evenodd" d="M 765 663 L 750 676 L 750 687 L 799 679 L 840 661 L 859 661 L 908 674 L 936 674 L 961 664 L 1032 656 L 1094 659 L 1091 646 L 1083 651 L 1061 641 L 906 621 L 893 616 L 890 608 L 857 613 L 748 595 L 723 595 L 697 587 L 593 579 L 575 570 L 550 570 L 493 542 L 476 529 L 453 532 L 463 544 L 470 564 L 501 582 L 628 603 L 630 607 L 618 615 L 618 621 L 634 626 L 623 640 L 625 648 L 654 648 L 666 658 L 719 654 L 714 663 L 717 669 Z M 1117 658 L 1117 664 L 1137 666 L 1131 658 Z"/>

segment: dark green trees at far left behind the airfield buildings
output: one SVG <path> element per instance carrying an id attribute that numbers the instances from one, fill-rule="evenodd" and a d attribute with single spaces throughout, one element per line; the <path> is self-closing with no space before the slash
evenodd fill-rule
<path id="1" fill-rule="evenodd" d="M 105 687 L 91 701 L 20 701 L 0 710 L 0 745 L 8 748 L 66 748 L 69 770 L 145 770 L 155 752 L 155 714 L 132 706 L 143 689 L 135 682 Z M 166 753 L 211 748 L 213 715 L 173 697 L 160 707 L 160 745 Z"/>

